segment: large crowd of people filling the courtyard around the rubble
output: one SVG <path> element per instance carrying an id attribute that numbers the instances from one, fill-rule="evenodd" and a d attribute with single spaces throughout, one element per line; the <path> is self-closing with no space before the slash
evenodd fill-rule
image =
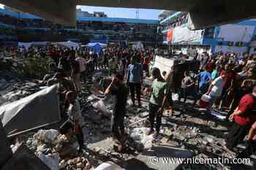
<path id="1" fill-rule="evenodd" d="M 238 157 L 248 157 L 256 150 L 256 55 L 197 54 L 192 58 L 200 63 L 196 72 L 187 69 L 180 73 L 176 66 L 173 66 L 170 72 L 161 73 L 159 68 L 150 68 L 157 53 L 154 49 L 129 50 L 109 47 L 102 53 L 94 53 L 89 50 L 51 47 L 34 53 L 40 55 L 39 52 L 44 53 L 43 57 L 53 58 L 50 66 L 51 77 L 45 77 L 40 83 L 59 83 L 61 117 L 67 120 L 61 127 L 61 133 L 70 133 L 72 129 L 81 150 L 83 118 L 77 96 L 82 90 L 80 81 L 86 83 L 97 69 L 108 70 L 109 76 L 113 77 L 105 88 L 105 95 L 116 96 L 112 133 L 120 144 L 126 136 L 124 117 L 129 93 L 134 107 L 141 107 L 141 96 L 150 94 L 148 134 L 153 136 L 159 134 L 165 109 L 170 110 L 170 114 L 173 112 L 172 93 L 178 93 L 178 102 L 183 98 L 184 107 L 189 104 L 188 98 L 191 98 L 193 104 L 200 108 L 199 111 L 209 115 L 213 109 L 227 112 L 226 120 L 231 121 L 233 125 L 230 126 L 226 147 L 234 151 L 244 138 L 247 142 L 246 149 L 239 153 Z M 189 58 L 180 55 L 180 58 Z M 151 77 L 151 87 L 143 86 L 145 77 Z M 178 80 L 181 82 L 177 82 Z M 178 89 L 174 89 L 173 84 L 178 84 Z"/>

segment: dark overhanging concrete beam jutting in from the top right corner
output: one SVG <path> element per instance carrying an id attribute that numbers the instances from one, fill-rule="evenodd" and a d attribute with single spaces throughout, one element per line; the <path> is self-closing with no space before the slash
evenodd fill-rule
<path id="1" fill-rule="evenodd" d="M 188 26 L 194 30 L 255 18 L 255 5 L 255 0 L 208 1 L 207 5 L 190 10 Z"/>

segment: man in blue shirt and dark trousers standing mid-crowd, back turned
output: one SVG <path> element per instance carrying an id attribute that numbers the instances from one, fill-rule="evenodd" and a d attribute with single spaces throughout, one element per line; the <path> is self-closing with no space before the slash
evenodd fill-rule
<path id="1" fill-rule="evenodd" d="M 135 58 L 131 58 L 131 64 L 128 66 L 128 77 L 127 82 L 129 85 L 129 90 L 132 96 L 132 105 L 135 106 L 135 90 L 136 97 L 138 100 L 138 107 L 141 107 L 140 103 L 140 90 L 141 82 L 143 80 L 143 69 L 140 63 L 135 61 Z"/>

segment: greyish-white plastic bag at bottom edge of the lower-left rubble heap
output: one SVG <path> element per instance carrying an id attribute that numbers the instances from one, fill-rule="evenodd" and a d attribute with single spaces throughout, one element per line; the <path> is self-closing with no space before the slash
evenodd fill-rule
<path id="1" fill-rule="evenodd" d="M 37 157 L 45 163 L 51 170 L 59 170 L 59 155 L 53 154 L 51 156 L 42 154 L 42 152 L 37 153 Z"/>

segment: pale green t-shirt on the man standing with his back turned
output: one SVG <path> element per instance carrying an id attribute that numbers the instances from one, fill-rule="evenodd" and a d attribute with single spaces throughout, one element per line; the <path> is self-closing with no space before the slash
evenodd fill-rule
<path id="1" fill-rule="evenodd" d="M 152 84 L 152 91 L 149 102 L 151 104 L 161 106 L 162 100 L 164 99 L 165 94 L 167 93 L 167 86 L 167 82 L 159 82 L 157 80 L 154 80 Z"/>

